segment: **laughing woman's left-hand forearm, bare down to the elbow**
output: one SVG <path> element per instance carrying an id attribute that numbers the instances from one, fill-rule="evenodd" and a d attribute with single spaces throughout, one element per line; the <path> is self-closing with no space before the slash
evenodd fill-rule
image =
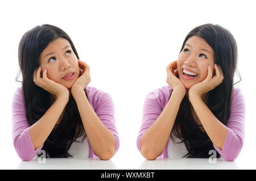
<path id="1" fill-rule="evenodd" d="M 172 91 L 171 98 L 158 119 L 144 132 L 141 138 L 141 153 L 146 159 L 156 159 L 163 151 L 183 98 L 184 95 L 179 91 Z"/>

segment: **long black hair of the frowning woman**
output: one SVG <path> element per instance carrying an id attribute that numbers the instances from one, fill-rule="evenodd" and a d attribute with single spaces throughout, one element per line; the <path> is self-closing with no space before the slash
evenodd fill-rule
<path id="1" fill-rule="evenodd" d="M 40 66 L 40 54 L 51 41 L 59 37 L 69 41 L 73 52 L 79 59 L 76 48 L 67 33 L 59 27 L 50 24 L 36 26 L 27 31 L 19 43 L 18 58 L 19 68 L 22 73 L 23 103 L 26 110 L 26 118 L 30 125 L 36 123 L 53 103 L 51 101 L 51 94 L 34 84 L 33 73 Z M 16 81 L 18 81 L 19 75 L 20 72 L 16 76 Z M 72 94 L 69 94 L 69 101 L 66 108 L 60 124 L 53 128 L 47 140 L 44 142 L 42 149 L 46 151 L 47 157 L 72 157 L 68 153 L 71 144 L 76 141 L 77 137 L 83 134 L 83 139 L 86 137 L 79 110 Z M 77 128 L 79 132 L 76 134 Z"/>

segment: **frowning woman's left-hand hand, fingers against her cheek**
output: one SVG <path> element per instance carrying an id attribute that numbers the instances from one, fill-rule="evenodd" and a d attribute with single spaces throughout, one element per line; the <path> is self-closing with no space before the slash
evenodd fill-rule
<path id="1" fill-rule="evenodd" d="M 42 87 L 44 90 L 55 95 L 56 98 L 58 98 L 59 96 L 65 96 L 66 98 L 69 98 L 69 90 L 67 89 L 67 87 L 47 78 L 47 69 L 43 70 L 43 78 L 42 78 L 41 71 L 42 71 L 41 66 L 39 66 L 39 68 L 35 69 L 34 71 L 33 81 L 35 85 Z"/>

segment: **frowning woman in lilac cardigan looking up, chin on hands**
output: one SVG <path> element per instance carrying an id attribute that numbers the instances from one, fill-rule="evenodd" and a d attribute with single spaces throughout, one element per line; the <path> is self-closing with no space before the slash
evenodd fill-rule
<path id="1" fill-rule="evenodd" d="M 90 67 L 70 37 L 44 24 L 19 44 L 22 87 L 13 97 L 13 143 L 19 157 L 110 159 L 119 148 L 110 95 L 88 86 Z"/>

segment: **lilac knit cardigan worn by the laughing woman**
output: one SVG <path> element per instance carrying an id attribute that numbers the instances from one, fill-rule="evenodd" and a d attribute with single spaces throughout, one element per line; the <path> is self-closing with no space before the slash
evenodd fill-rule
<path id="1" fill-rule="evenodd" d="M 137 148 L 140 152 L 143 133 L 158 119 L 160 113 L 168 103 L 171 92 L 172 89 L 170 86 L 163 86 L 147 94 L 143 106 L 142 125 L 137 138 Z M 231 114 L 228 123 L 226 123 L 226 127 L 228 127 L 228 134 L 226 135 L 222 150 L 217 148 L 214 144 L 213 146 L 214 149 L 220 153 L 222 158 L 226 161 L 233 161 L 238 157 L 238 154 L 240 154 L 245 140 L 245 99 L 241 90 L 236 87 L 233 88 Z M 168 149 L 167 141 L 165 148 L 158 158 L 168 158 L 168 150 L 170 149 L 172 148 Z M 185 149 L 185 146 L 183 146 L 183 149 Z M 180 150 L 179 148 L 176 150 L 184 153 L 184 150 Z"/>

